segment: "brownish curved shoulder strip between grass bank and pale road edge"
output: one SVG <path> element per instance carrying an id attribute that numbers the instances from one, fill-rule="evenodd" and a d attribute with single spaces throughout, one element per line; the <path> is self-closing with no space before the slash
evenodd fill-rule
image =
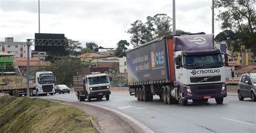
<path id="1" fill-rule="evenodd" d="M 60 100 L 51 101 L 75 106 L 84 110 L 88 114 L 95 116 L 98 127 L 103 132 L 143 132 L 143 130 L 135 125 L 133 122 L 125 119 L 123 116 L 119 116 L 116 113 L 110 112 L 109 110 L 86 105 L 81 102 L 69 102 Z"/>

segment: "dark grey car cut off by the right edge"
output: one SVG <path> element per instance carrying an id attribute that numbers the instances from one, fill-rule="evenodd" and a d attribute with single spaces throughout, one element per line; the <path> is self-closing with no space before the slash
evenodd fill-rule
<path id="1" fill-rule="evenodd" d="M 244 98 L 251 98 L 256 101 L 256 73 L 245 73 L 241 76 L 238 87 L 238 98 L 240 101 Z"/>

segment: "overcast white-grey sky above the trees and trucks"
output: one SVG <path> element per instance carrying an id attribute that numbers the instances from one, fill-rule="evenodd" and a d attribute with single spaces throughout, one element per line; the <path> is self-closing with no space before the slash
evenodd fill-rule
<path id="1" fill-rule="evenodd" d="M 176 1 L 176 29 L 211 33 L 212 0 Z M 41 33 L 64 33 L 68 39 L 115 48 L 136 20 L 165 13 L 172 18 L 172 0 L 40 0 Z M 217 14 L 218 11 L 215 11 Z M 221 32 L 215 21 L 215 35 Z M 26 41 L 38 33 L 38 0 L 0 0 L 0 41 Z"/>

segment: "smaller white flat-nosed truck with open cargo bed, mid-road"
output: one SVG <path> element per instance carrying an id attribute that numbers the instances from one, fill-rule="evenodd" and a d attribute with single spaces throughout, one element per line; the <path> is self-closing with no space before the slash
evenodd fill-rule
<path id="1" fill-rule="evenodd" d="M 91 75 L 73 76 L 74 90 L 79 101 L 106 98 L 109 100 L 110 80 L 106 73 L 93 72 Z"/>

